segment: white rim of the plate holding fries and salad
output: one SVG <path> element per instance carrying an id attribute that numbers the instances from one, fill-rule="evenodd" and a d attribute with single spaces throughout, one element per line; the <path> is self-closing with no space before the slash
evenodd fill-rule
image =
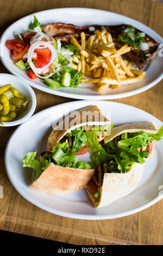
<path id="1" fill-rule="evenodd" d="M 15 21 L 14 23 L 12 23 L 7 29 L 5 29 L 5 31 L 3 32 L 2 36 L 1 36 L 1 40 L 0 40 L 0 44 L 1 42 L 3 41 L 3 36 L 8 32 L 8 29 L 14 25 L 15 23 L 17 22 L 20 22 L 21 20 L 23 19 L 27 19 L 27 17 L 30 17 L 32 15 L 37 15 L 37 14 L 41 14 L 41 13 L 47 13 L 48 11 L 58 11 L 58 10 L 77 10 L 77 9 L 80 9 L 80 10 L 90 10 L 90 11 L 102 11 L 102 12 L 106 12 L 106 13 L 111 13 L 111 14 L 115 14 L 117 16 L 120 16 L 120 17 L 125 17 L 127 19 L 129 19 L 131 22 L 137 22 L 138 24 L 140 25 L 143 25 L 145 26 L 147 29 L 151 30 L 155 36 L 158 37 L 158 40 L 159 41 L 162 41 L 163 43 L 163 38 L 158 34 L 156 33 L 152 28 L 146 26 L 145 24 L 143 24 L 142 22 L 140 21 L 137 21 L 135 19 L 132 19 L 130 17 L 127 17 L 125 15 L 122 15 L 122 14 L 117 14 L 117 13 L 114 13 L 114 12 L 111 12 L 111 11 L 107 11 L 107 10 L 101 10 L 101 9 L 92 9 L 92 8 L 56 8 L 56 9 L 48 9 L 48 10 L 43 10 L 43 11 L 38 11 L 36 13 L 33 13 L 33 14 L 29 14 L 29 15 L 26 15 L 24 17 L 22 17 L 21 19 Z M 161 42 L 160 42 L 161 43 Z M 160 44 L 159 43 L 159 44 Z M 12 67 L 10 65 L 8 65 L 8 63 L 5 62 L 5 58 L 3 58 L 1 56 L 1 61 L 3 63 L 3 65 L 5 66 L 5 68 L 7 68 L 9 70 L 9 72 L 11 72 L 11 74 L 14 74 L 15 76 L 18 76 L 18 77 L 21 77 L 23 80 L 25 80 L 26 82 L 28 82 L 30 84 L 30 86 L 36 88 L 36 89 L 39 89 L 41 90 L 42 92 L 46 92 L 46 93 L 49 93 L 49 94 L 53 94 L 53 95 L 57 95 L 57 96 L 62 96 L 62 97 L 68 97 L 70 99 L 79 99 L 79 100 L 112 100 L 112 99 L 121 99 L 123 97 L 129 97 L 129 96 L 133 96 L 133 95 L 136 95 L 136 94 L 139 94 L 139 93 L 142 93 L 142 92 L 145 92 L 146 90 L 152 88 L 153 86 L 155 86 L 157 83 L 159 83 L 162 78 L 163 78 L 163 71 L 162 71 L 162 74 L 160 74 L 160 76 L 158 76 L 154 81 L 152 81 L 151 83 L 148 83 L 146 86 L 143 86 L 141 88 L 137 88 L 137 89 L 134 89 L 134 90 L 131 90 L 129 92 L 123 92 L 123 93 L 119 93 L 119 94 L 108 94 L 108 95 L 85 95 L 85 94 L 73 94 L 73 93 L 68 93 L 68 92 L 60 92 L 59 90 L 52 90 L 51 88 L 48 88 L 48 87 L 43 87 L 39 84 L 36 84 L 30 80 L 28 80 L 27 78 L 23 77 L 21 74 L 18 74 L 17 71 L 15 71 L 14 69 L 12 69 Z M 40 89 L 41 88 L 41 89 Z"/>

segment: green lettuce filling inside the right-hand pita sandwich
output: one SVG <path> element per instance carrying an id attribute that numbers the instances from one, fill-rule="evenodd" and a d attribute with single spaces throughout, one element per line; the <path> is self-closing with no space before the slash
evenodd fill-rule
<path id="1" fill-rule="evenodd" d="M 163 126 L 156 134 L 146 132 L 123 133 L 121 141 L 116 145 L 113 141 L 104 145 L 106 153 L 114 155 L 117 163 L 117 172 L 126 173 L 133 163 L 144 163 L 148 157 L 147 151 L 139 152 L 139 148 L 147 147 L 150 141 L 159 141 L 163 136 Z"/>

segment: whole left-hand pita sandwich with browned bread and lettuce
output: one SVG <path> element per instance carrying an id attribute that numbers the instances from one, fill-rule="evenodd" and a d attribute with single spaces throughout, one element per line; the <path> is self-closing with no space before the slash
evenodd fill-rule
<path id="1" fill-rule="evenodd" d="M 110 120 L 97 106 L 85 107 L 67 115 L 50 133 L 48 151 L 42 152 L 39 160 L 35 159 L 36 151 L 24 157 L 23 167 L 33 168 L 30 187 L 52 195 L 83 188 L 95 169 L 90 162 L 80 161 L 77 155 L 89 151 L 93 138 L 99 147 L 99 141 L 109 135 L 110 130 Z"/>

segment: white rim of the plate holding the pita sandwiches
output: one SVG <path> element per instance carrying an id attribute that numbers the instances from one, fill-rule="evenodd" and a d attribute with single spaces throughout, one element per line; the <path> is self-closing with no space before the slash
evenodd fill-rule
<path id="1" fill-rule="evenodd" d="M 78 219 L 78 220 L 110 220 L 110 219 L 114 219 L 114 218 L 120 218 L 120 217 L 124 217 L 124 216 L 128 216 L 128 215 L 131 215 L 131 214 L 135 214 L 136 212 L 140 212 L 142 210 L 145 210 L 147 209 L 149 206 L 157 203 L 159 200 L 161 200 L 163 198 L 163 193 L 161 193 L 159 196 L 155 197 L 154 199 L 152 199 L 151 201 L 149 201 L 148 203 L 146 204 L 143 204 L 141 206 L 139 206 L 138 208 L 134 208 L 134 209 L 131 209 L 131 210 L 128 210 L 128 211 L 123 211 L 123 212 L 119 212 L 118 214 L 109 214 L 109 215 L 85 215 L 85 214 L 73 214 L 71 212 L 65 212 L 65 211 L 61 211 L 61 210 L 56 210 L 54 208 L 51 208 L 47 205 L 44 205 L 43 203 L 39 203 L 37 201 L 35 201 L 35 199 L 33 199 L 31 196 L 28 196 L 26 195 L 26 193 L 24 191 L 21 191 L 19 187 L 17 187 L 15 185 L 15 182 L 13 181 L 12 179 L 12 175 L 10 175 L 10 172 L 8 171 L 8 161 L 7 161 L 7 154 L 8 154 L 8 147 L 11 143 L 11 139 L 12 139 L 12 136 L 14 136 L 14 134 L 19 130 L 21 129 L 21 127 L 23 125 L 26 125 L 27 122 L 30 121 L 30 119 L 34 119 L 36 116 L 39 116 L 41 115 L 42 113 L 44 112 L 48 112 L 49 110 L 51 109 L 55 109 L 57 107 L 60 107 L 60 106 L 64 106 L 64 105 L 70 105 L 70 104 L 74 104 L 74 103 L 80 103 L 80 102 L 86 102 L 86 103 L 92 103 L 93 104 L 96 104 L 98 102 L 105 102 L 105 101 L 102 101 L 102 100 L 80 100 L 80 101 L 71 101 L 71 102 L 65 102 L 65 103 L 61 103 L 59 105 L 55 105 L 55 106 L 52 106 L 52 107 L 49 107 L 49 108 L 46 108 L 46 109 L 43 109 L 42 111 L 40 112 L 37 112 L 36 114 L 34 114 L 31 118 L 29 118 L 26 122 L 22 123 L 20 126 L 17 127 L 17 129 L 12 133 L 11 137 L 9 138 L 8 142 L 7 142 L 7 145 L 5 147 L 5 151 L 4 151 L 4 165 L 5 165 L 5 170 L 7 172 L 7 175 L 8 175 L 8 178 L 12 184 L 12 186 L 15 188 L 15 190 L 21 194 L 21 196 L 23 198 L 25 198 L 28 202 L 36 205 L 37 207 L 39 207 L 40 209 L 43 209 L 45 211 L 48 211 L 48 212 L 51 212 L 52 214 L 55 214 L 55 215 L 59 215 L 59 216 L 62 216 L 62 217 L 67 217 L 67 218 L 74 218 L 74 219 Z M 113 103 L 115 105 L 127 105 L 128 107 L 130 108 L 136 108 L 134 106 L 130 106 L 128 104 L 124 104 L 124 103 L 119 103 L 119 102 L 114 102 L 114 101 L 108 101 L 108 104 L 109 103 Z M 87 106 L 87 105 L 86 105 Z M 148 115 L 150 115 L 151 117 L 154 117 L 152 114 L 146 112 L 146 111 L 143 111 L 142 109 L 140 108 L 136 108 L 136 109 L 139 109 L 139 111 L 141 111 L 142 113 L 145 112 L 147 113 Z M 154 117 L 155 119 L 157 119 L 158 121 L 160 121 L 162 123 L 161 120 L 159 120 L 158 118 Z M 163 124 L 163 123 L 162 123 Z"/>

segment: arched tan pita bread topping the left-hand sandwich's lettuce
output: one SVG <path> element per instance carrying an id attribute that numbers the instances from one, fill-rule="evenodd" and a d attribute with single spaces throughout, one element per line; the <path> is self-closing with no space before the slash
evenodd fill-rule
<path id="1" fill-rule="evenodd" d="M 67 117 L 70 117 L 68 119 L 68 123 L 70 123 L 70 127 L 68 129 L 56 130 L 58 128 L 58 126 L 54 127 L 54 130 L 52 130 L 52 132 L 48 136 L 48 142 L 47 142 L 48 151 L 53 151 L 54 148 L 55 148 L 55 144 L 57 144 L 60 141 L 60 139 L 66 135 L 67 132 L 70 132 L 70 131 L 72 131 L 72 130 L 80 127 L 80 126 L 83 126 L 83 125 L 86 125 L 86 124 L 89 124 L 89 125 L 106 125 L 106 124 L 110 123 L 110 120 L 107 119 L 106 117 L 104 117 L 101 110 L 96 105 L 87 106 L 87 107 L 84 107 L 84 108 L 79 109 L 79 110 L 77 109 L 76 111 L 79 112 L 79 115 L 80 115 L 79 118 L 77 118 L 77 117 L 71 118 L 70 115 L 73 116 L 73 114 L 75 114 L 75 112 L 72 112 L 72 113 L 68 114 L 65 118 L 63 118 L 62 121 L 60 122 L 60 127 L 64 127 L 65 119 Z M 98 113 L 98 117 L 99 117 L 99 114 L 100 114 L 104 121 L 97 121 L 98 117 L 93 117 L 92 121 L 89 121 L 89 119 L 87 119 L 86 122 L 82 122 L 82 112 L 83 111 L 86 111 L 86 112 L 91 111 L 92 113 L 94 111 L 96 111 Z M 77 121 L 77 125 L 74 125 L 75 121 Z"/>

